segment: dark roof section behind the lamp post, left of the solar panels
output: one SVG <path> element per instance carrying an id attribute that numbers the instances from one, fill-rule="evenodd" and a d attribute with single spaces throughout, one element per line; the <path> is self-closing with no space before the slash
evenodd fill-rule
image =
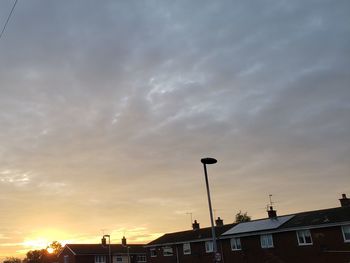
<path id="1" fill-rule="evenodd" d="M 228 224 L 220 227 L 215 227 L 216 236 L 219 237 L 222 233 L 231 229 L 235 225 L 236 224 Z M 187 230 L 181 232 L 168 233 L 148 243 L 147 246 L 196 242 L 203 239 L 211 239 L 211 237 L 211 227 L 206 227 L 198 230 Z"/>

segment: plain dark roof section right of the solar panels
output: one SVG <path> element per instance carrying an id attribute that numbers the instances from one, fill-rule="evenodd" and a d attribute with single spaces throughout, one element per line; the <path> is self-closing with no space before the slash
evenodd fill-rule
<path id="1" fill-rule="evenodd" d="M 350 222 L 350 207 L 336 207 L 298 213 L 291 220 L 283 224 L 281 229 L 342 222 Z"/>

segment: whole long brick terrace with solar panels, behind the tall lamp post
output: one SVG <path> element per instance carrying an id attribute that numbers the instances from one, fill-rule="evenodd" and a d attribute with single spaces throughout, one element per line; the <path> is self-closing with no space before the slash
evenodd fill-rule
<path id="1" fill-rule="evenodd" d="M 341 207 L 216 226 L 222 262 L 348 263 L 350 199 Z M 151 263 L 213 262 L 210 228 L 165 234 L 146 245 Z"/>

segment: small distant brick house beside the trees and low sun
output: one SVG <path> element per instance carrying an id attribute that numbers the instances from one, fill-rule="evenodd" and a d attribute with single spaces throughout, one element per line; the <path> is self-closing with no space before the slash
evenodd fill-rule
<path id="1" fill-rule="evenodd" d="M 111 244 L 113 263 L 147 262 L 144 245 Z M 130 261 L 128 261 L 128 258 Z M 101 244 L 67 244 L 58 255 L 59 263 L 109 263 L 109 246 Z"/>

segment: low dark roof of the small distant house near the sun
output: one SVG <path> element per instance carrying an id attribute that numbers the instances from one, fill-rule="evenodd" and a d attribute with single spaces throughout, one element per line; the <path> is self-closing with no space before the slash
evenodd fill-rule
<path id="1" fill-rule="evenodd" d="M 145 253 L 144 245 L 130 244 L 128 245 L 130 254 Z M 101 244 L 66 244 L 65 247 L 70 249 L 75 255 L 108 255 L 109 246 L 102 246 Z M 111 244 L 112 254 L 126 254 L 127 248 L 121 244 Z"/>

